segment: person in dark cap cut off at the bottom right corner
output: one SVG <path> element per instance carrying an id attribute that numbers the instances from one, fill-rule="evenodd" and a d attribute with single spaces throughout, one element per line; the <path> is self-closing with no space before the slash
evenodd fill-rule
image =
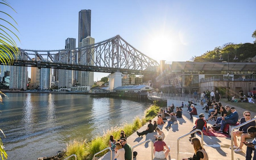
<path id="1" fill-rule="evenodd" d="M 254 151 L 253 159 L 256 159 L 256 127 L 251 126 L 247 129 L 247 133 L 251 136 L 251 138 L 254 138 L 252 142 L 243 141 L 244 145 L 246 147 L 246 155 L 245 160 L 251 160 L 252 159 L 252 151 Z"/>

